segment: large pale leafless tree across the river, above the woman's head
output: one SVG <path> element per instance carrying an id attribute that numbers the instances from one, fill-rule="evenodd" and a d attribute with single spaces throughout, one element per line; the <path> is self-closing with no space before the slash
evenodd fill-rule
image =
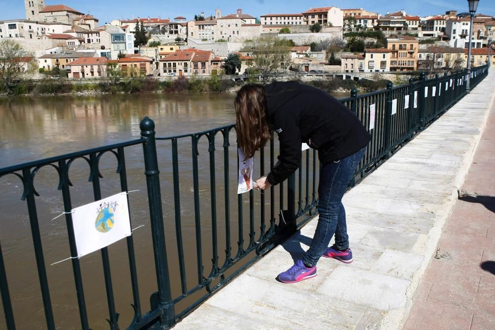
<path id="1" fill-rule="evenodd" d="M 293 47 L 291 41 L 274 36 L 262 36 L 245 42 L 242 51 L 252 56 L 252 69 L 259 72 L 263 83 L 267 83 L 279 69 L 285 70 L 289 67 L 290 50 Z"/>

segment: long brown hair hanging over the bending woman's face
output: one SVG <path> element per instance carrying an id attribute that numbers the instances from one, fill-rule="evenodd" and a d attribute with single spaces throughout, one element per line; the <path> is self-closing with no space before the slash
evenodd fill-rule
<path id="1" fill-rule="evenodd" d="M 263 86 L 259 84 L 243 86 L 237 92 L 235 108 L 237 144 L 246 159 L 251 158 L 254 152 L 271 138 Z"/>

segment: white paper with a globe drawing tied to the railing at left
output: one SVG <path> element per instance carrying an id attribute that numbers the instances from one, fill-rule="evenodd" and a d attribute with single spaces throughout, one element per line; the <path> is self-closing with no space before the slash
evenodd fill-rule
<path id="1" fill-rule="evenodd" d="M 127 193 L 121 192 L 72 210 L 77 256 L 131 236 Z"/>

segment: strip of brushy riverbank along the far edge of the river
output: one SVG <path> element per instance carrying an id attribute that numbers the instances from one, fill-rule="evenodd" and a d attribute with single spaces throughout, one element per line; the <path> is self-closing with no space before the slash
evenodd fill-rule
<path id="1" fill-rule="evenodd" d="M 248 81 L 251 82 L 251 81 Z M 211 76 L 208 79 L 180 77 L 160 81 L 154 78 L 135 77 L 129 79 L 104 80 L 97 83 L 75 83 L 68 79 L 26 80 L 15 85 L 10 93 L 0 89 L 0 96 L 10 95 L 94 95 L 135 93 L 236 93 L 248 82 L 234 82 Z M 254 82 L 254 81 L 253 81 Z M 350 93 L 356 88 L 360 93 L 373 92 L 387 87 L 387 80 L 378 81 L 350 79 L 317 79 L 304 82 L 327 93 Z"/>

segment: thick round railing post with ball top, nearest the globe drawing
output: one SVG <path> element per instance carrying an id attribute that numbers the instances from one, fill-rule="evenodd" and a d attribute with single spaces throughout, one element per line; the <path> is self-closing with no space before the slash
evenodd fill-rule
<path id="1" fill-rule="evenodd" d="M 156 156 L 156 140 L 154 122 L 145 117 L 139 124 L 141 136 L 145 140 L 143 151 L 145 158 L 146 186 L 148 188 L 149 217 L 151 237 L 155 259 L 156 281 L 158 286 L 157 308 L 161 310 L 162 328 L 171 328 L 175 324 L 175 310 L 170 291 L 167 250 L 165 246 L 165 230 L 163 228 L 163 211 L 161 207 L 161 191 Z"/>

